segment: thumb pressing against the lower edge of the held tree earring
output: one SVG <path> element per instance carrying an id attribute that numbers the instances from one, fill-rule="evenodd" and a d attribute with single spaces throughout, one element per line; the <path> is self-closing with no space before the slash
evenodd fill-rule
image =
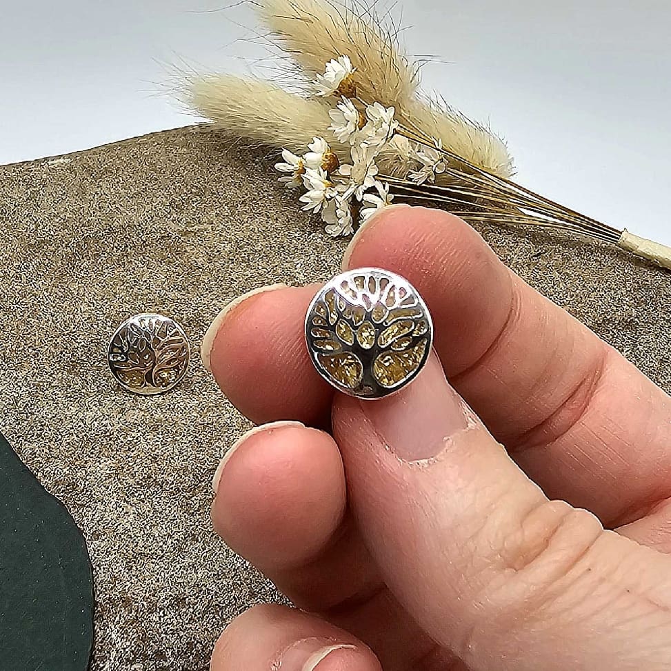
<path id="1" fill-rule="evenodd" d="M 333 430 L 385 581 L 469 668 L 670 668 L 671 559 L 548 501 L 436 354 L 393 397 L 338 395 Z"/>

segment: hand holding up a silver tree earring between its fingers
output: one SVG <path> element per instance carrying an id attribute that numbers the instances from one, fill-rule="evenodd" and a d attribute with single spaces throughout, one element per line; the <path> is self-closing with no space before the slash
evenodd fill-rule
<path id="1" fill-rule="evenodd" d="M 204 343 L 266 424 L 217 471 L 214 527 L 301 609 L 241 615 L 212 670 L 670 669 L 671 399 L 456 217 L 385 210 L 345 255 L 363 266 L 434 317 L 394 397 L 314 371 L 316 286 L 236 301 Z"/>

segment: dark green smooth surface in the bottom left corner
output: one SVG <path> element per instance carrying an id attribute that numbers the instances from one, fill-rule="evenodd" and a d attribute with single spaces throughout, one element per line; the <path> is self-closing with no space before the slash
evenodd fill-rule
<path id="1" fill-rule="evenodd" d="M 0 670 L 84 671 L 92 641 L 86 542 L 0 436 Z"/>

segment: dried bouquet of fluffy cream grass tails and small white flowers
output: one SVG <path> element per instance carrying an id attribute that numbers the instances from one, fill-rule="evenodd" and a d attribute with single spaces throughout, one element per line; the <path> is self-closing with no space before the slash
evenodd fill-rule
<path id="1" fill-rule="evenodd" d="M 512 181 L 501 138 L 419 92 L 419 63 L 397 30 L 356 0 L 257 0 L 292 60 L 290 89 L 231 75 L 193 77 L 194 110 L 233 137 L 281 148 L 275 166 L 328 234 L 348 236 L 399 201 L 431 201 L 467 221 L 587 235 L 671 268 L 671 249 Z M 307 148 L 307 151 L 305 149 Z"/>

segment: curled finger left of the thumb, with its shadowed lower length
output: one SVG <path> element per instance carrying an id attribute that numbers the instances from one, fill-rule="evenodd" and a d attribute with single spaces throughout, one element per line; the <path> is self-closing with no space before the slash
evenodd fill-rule
<path id="1" fill-rule="evenodd" d="M 451 659 L 383 582 L 348 512 L 330 435 L 296 422 L 262 425 L 227 452 L 214 487 L 212 520 L 226 543 L 299 608 L 369 645 L 385 671 Z"/>

